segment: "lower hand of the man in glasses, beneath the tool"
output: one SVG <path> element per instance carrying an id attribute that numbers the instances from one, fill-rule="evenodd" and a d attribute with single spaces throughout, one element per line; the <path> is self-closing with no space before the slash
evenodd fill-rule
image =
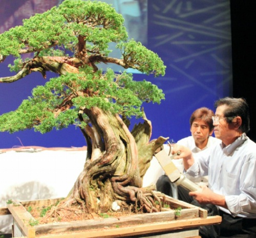
<path id="1" fill-rule="evenodd" d="M 189 195 L 194 197 L 200 204 L 210 203 L 227 208 L 225 196 L 212 192 L 211 189 L 205 185 L 201 186 L 201 188 L 202 189 L 198 191 L 189 192 Z"/>

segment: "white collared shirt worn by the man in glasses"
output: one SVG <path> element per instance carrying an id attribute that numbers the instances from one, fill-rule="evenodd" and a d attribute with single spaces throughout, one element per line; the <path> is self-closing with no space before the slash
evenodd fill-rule
<path id="1" fill-rule="evenodd" d="M 225 196 L 232 216 L 256 218 L 256 144 L 244 133 L 227 147 L 214 145 L 194 155 L 186 173 L 208 175 L 209 188 Z"/>

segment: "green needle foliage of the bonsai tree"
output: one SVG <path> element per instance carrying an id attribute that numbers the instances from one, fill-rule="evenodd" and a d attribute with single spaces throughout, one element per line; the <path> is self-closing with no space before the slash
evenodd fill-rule
<path id="1" fill-rule="evenodd" d="M 165 66 L 157 54 L 140 42 L 127 40 L 123 22 L 123 17 L 106 3 L 65 0 L 58 7 L 25 19 L 23 26 L 0 34 L 0 62 L 13 56 L 14 64 L 9 65 L 11 71 L 19 72 L 40 57 L 73 57 L 81 62 L 79 73 L 50 79 L 45 85 L 34 88 L 32 96 L 17 110 L 1 115 L 0 131 L 13 133 L 33 128 L 46 133 L 71 124 L 84 126 L 88 119 L 84 109 L 92 107 L 127 117 L 141 117 L 144 102 L 160 103 L 164 94 L 151 82 L 134 81 L 126 72 L 95 70 L 98 63 L 115 60 L 124 68 L 138 69 L 145 75 L 164 75 Z M 110 59 L 111 42 L 117 43 L 121 59 Z M 83 54 L 78 50 L 81 45 Z M 24 59 L 24 54 L 29 54 L 30 58 Z M 33 67 L 36 71 L 38 63 Z M 45 68 L 37 70 L 42 72 Z M 82 123 L 78 117 L 81 113 Z"/>

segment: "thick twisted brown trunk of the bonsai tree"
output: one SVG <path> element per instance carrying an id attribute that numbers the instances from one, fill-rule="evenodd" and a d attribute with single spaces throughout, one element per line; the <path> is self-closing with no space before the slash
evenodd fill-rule
<path id="1" fill-rule="evenodd" d="M 151 135 L 151 125 L 145 120 L 134 130 L 134 133 L 140 132 L 137 143 L 147 140 L 147 145 L 138 151 L 136 136 L 132 135 L 119 115 L 96 107 L 87 109 L 86 114 L 92 123 L 86 132 L 91 138 L 89 147 L 92 150 L 88 152 L 90 159 L 87 159 L 64 206 L 78 202 L 88 212 L 106 212 L 116 201 L 122 207 L 136 204 L 132 205 L 134 209 L 140 205 L 146 211 L 156 211 L 152 199 L 154 191 L 152 188 L 142 188 L 142 178 L 154 151 L 166 139 L 160 137 L 149 142 L 147 139 Z M 145 165 L 147 168 L 140 170 L 140 164 L 141 168 L 145 168 Z"/>

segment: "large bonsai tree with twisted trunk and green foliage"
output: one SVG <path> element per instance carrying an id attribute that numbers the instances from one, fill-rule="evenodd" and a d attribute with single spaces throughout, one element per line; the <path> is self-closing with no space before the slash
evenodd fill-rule
<path id="1" fill-rule="evenodd" d="M 0 62 L 13 56 L 9 67 L 17 72 L 0 82 L 11 83 L 33 72 L 44 78 L 48 71 L 57 75 L 34 88 L 15 111 L 2 114 L 0 131 L 33 128 L 46 133 L 73 124 L 87 142 L 86 163 L 61 208 L 78 203 L 86 212 L 105 212 L 116 201 L 121 208 L 157 211 L 159 197 L 153 187 L 142 188 L 142 179 L 167 138 L 151 140 L 152 126 L 142 103 L 160 103 L 164 94 L 125 71 L 114 73 L 111 64 L 156 77 L 164 75 L 165 66 L 140 42 L 127 40 L 123 22 L 108 4 L 66 0 L 0 35 Z M 117 43 L 120 59 L 110 57 L 110 42 Z M 103 72 L 99 63 L 110 68 Z M 130 131 L 132 116 L 144 120 Z"/>

